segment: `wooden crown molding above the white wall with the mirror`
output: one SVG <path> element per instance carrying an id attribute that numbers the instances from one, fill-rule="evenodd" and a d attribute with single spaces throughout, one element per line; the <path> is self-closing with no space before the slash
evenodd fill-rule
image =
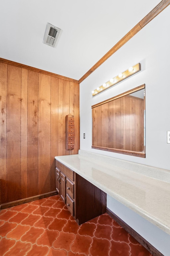
<path id="1" fill-rule="evenodd" d="M 103 62 L 111 57 L 118 49 L 120 49 L 126 42 L 128 42 L 135 34 L 137 34 L 143 27 L 145 27 L 152 19 L 161 13 L 168 5 L 170 0 L 162 0 L 154 9 L 150 11 L 137 25 L 133 27 L 119 42 L 116 43 L 91 69 L 87 71 L 80 79 L 79 83 L 83 82 L 93 71 L 95 71 Z"/>

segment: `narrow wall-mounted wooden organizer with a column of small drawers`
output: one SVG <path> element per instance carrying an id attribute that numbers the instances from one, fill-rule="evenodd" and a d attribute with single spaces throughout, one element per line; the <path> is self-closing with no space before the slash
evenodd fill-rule
<path id="1" fill-rule="evenodd" d="M 66 150 L 74 149 L 74 116 L 66 115 Z"/>

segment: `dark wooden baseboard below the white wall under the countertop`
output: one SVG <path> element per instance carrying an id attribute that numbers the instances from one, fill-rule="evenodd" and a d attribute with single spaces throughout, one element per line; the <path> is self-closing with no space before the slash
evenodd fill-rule
<path id="1" fill-rule="evenodd" d="M 145 247 L 153 256 L 164 256 L 160 251 L 158 251 L 153 245 L 151 245 L 145 238 L 139 235 L 134 229 L 132 229 L 128 224 L 126 224 L 122 219 L 120 219 L 111 210 L 106 208 L 106 212 L 112 219 L 114 219 L 121 227 L 123 227 L 131 236 L 133 236 L 143 247 Z"/>

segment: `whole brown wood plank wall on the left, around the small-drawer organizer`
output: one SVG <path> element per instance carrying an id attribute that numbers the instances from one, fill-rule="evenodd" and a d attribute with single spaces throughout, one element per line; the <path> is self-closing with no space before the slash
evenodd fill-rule
<path id="1" fill-rule="evenodd" d="M 66 150 L 65 117 L 75 117 Z M 55 191 L 58 155 L 78 154 L 79 83 L 0 62 L 1 203 Z"/>

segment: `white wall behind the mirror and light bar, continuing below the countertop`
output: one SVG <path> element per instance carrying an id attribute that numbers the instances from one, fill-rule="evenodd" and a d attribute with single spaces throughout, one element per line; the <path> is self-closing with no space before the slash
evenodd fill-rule
<path id="1" fill-rule="evenodd" d="M 166 139 L 167 131 L 170 131 L 169 17 L 170 6 L 80 84 L 81 150 L 170 170 L 170 144 L 167 144 Z M 137 74 L 92 97 L 91 91 L 96 87 L 139 62 L 141 71 Z M 91 106 L 143 83 L 146 85 L 146 158 L 91 149 Z M 83 133 L 86 134 L 86 139 L 83 139 Z M 107 207 L 128 225 L 133 226 L 133 229 L 164 255 L 169 255 L 170 243 L 167 243 L 170 241 L 169 235 L 136 213 L 133 213 L 135 217 L 131 221 L 132 213 L 129 209 L 124 208 L 125 206 L 115 202 L 111 197 L 108 197 Z M 126 214 L 122 214 L 123 211 Z"/>

